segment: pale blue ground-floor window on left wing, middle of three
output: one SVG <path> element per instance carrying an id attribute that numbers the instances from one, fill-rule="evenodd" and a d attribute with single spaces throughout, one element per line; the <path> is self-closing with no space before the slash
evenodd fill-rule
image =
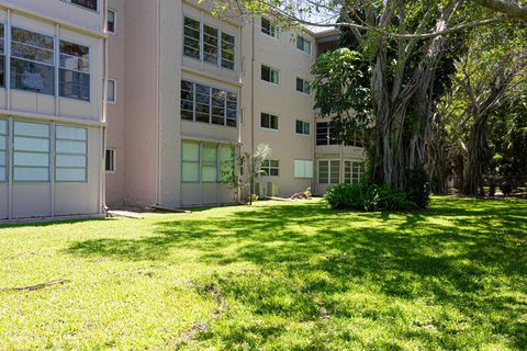
<path id="1" fill-rule="evenodd" d="M 13 180 L 49 181 L 49 125 L 14 122 Z"/>

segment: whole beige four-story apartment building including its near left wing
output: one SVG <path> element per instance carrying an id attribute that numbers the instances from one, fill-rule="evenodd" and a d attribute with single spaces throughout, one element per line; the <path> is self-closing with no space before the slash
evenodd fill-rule
<path id="1" fill-rule="evenodd" d="M 222 168 L 259 144 L 260 195 L 360 177 L 310 91 L 335 31 L 186 0 L 2 0 L 0 18 L 0 218 L 231 203 Z"/>

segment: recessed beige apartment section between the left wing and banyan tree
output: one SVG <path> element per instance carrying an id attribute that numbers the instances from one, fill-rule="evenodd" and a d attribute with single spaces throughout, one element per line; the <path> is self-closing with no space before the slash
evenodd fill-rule
<path id="1" fill-rule="evenodd" d="M 262 143 L 272 156 L 256 186 L 260 195 L 307 188 L 322 194 L 360 178 L 360 145 L 335 145 L 309 87 L 311 66 L 335 47 L 336 31 L 280 31 L 271 18 L 218 19 L 192 1 L 110 0 L 109 7 L 109 18 L 119 18 L 109 38 L 110 204 L 229 203 L 223 162 L 232 148 L 250 154 Z"/>

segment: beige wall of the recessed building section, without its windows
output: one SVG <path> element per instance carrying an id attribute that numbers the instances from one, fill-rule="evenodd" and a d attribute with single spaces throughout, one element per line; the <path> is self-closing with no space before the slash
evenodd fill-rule
<path id="1" fill-rule="evenodd" d="M 117 82 L 116 103 L 108 106 L 106 147 L 116 150 L 116 171 L 106 174 L 109 204 L 179 207 L 214 205 L 233 200 L 221 183 L 182 181 L 182 143 L 233 146 L 253 152 L 269 144 L 279 176 L 259 179 L 276 195 L 289 196 L 317 184 L 317 159 L 358 158 L 348 147 L 316 147 L 314 95 L 296 91 L 296 78 L 311 81 L 316 58 L 314 33 L 261 32 L 261 19 L 240 23 L 239 16 L 213 18 L 206 2 L 169 0 L 110 0 L 117 12 L 117 33 L 109 38 L 109 76 Z M 212 26 L 235 37 L 235 68 L 226 69 L 183 55 L 183 19 Z M 296 47 L 296 35 L 311 42 L 311 53 Z M 261 80 L 261 65 L 280 71 L 280 83 Z M 237 127 L 181 118 L 181 80 L 235 92 Z M 260 114 L 279 116 L 278 131 L 260 126 Z M 310 123 L 309 135 L 296 133 L 296 120 Z M 341 149 L 341 150 L 340 150 Z M 296 178 L 295 160 L 312 162 L 313 177 Z"/>

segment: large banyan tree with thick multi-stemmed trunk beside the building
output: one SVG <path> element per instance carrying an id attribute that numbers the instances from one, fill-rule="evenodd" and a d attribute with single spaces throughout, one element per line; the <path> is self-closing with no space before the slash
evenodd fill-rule
<path id="1" fill-rule="evenodd" d="M 357 80 L 362 84 L 366 80 L 360 88 L 368 90 L 367 103 L 359 99 L 348 106 L 333 103 L 336 107 L 328 109 L 327 114 L 337 120 L 358 118 L 344 109 L 360 112 L 368 105 L 368 111 L 359 113 L 359 117 L 371 118 L 370 177 L 378 183 L 403 190 L 425 162 L 436 81 L 446 77 L 441 71 L 448 67 L 446 60 L 451 59 L 448 55 L 452 45 L 462 41 L 466 30 L 511 21 L 511 16 L 503 14 L 505 8 L 489 11 L 463 0 L 232 0 L 228 4 L 215 0 L 213 3 L 218 12 L 235 8 L 246 18 L 272 14 L 283 26 L 336 26 L 347 32 L 348 46 L 365 65 L 352 69 L 362 70 L 365 79 L 350 73 L 351 80 L 346 83 L 345 76 L 339 76 L 341 69 L 328 67 L 318 81 L 340 79 L 341 91 L 333 91 L 333 97 L 317 93 L 317 104 L 332 104 L 332 99 L 350 95 L 349 91 L 357 88 L 351 84 Z M 357 55 L 351 57 L 359 59 Z"/>

